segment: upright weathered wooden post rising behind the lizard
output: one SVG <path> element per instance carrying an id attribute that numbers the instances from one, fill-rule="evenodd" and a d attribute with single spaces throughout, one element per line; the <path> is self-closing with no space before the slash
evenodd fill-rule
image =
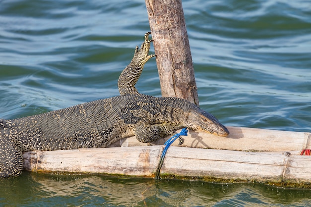
<path id="1" fill-rule="evenodd" d="M 199 105 L 181 0 L 145 0 L 163 97 Z"/>

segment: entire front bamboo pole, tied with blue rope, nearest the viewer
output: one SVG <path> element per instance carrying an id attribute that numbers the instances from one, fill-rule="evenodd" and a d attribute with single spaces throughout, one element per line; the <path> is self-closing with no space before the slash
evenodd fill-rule
<path id="1" fill-rule="evenodd" d="M 116 147 L 23 153 L 31 171 L 153 176 L 163 146 Z M 311 181 L 311 156 L 293 152 L 245 152 L 171 146 L 162 174 L 257 182 Z"/>

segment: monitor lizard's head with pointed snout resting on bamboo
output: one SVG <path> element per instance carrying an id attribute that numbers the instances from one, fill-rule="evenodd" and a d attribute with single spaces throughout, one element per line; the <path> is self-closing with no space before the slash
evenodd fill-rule
<path id="1" fill-rule="evenodd" d="M 228 129 L 218 119 L 199 107 L 190 110 L 187 114 L 186 127 L 191 130 L 200 130 L 223 137 L 229 135 Z"/>

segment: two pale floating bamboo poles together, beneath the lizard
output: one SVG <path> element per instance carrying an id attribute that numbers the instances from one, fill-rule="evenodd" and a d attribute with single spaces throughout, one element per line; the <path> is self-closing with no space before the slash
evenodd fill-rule
<path id="1" fill-rule="evenodd" d="M 311 148 L 311 133 L 228 129 L 228 137 L 189 131 L 181 146 L 175 141 L 167 150 L 161 177 L 311 187 L 311 156 L 300 155 Z M 24 152 L 24 169 L 154 177 L 168 138 L 149 146 L 130 137 L 108 148 Z"/>

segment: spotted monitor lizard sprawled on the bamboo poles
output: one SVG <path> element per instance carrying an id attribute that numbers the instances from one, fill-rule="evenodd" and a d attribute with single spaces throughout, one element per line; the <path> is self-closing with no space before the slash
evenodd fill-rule
<path id="1" fill-rule="evenodd" d="M 148 33 L 140 49 L 118 81 L 120 96 L 79 104 L 70 108 L 0 120 L 0 177 L 22 172 L 22 152 L 106 147 L 135 135 L 153 142 L 188 127 L 227 136 L 227 128 L 208 112 L 179 98 L 153 97 L 135 88 L 148 55 Z"/>

